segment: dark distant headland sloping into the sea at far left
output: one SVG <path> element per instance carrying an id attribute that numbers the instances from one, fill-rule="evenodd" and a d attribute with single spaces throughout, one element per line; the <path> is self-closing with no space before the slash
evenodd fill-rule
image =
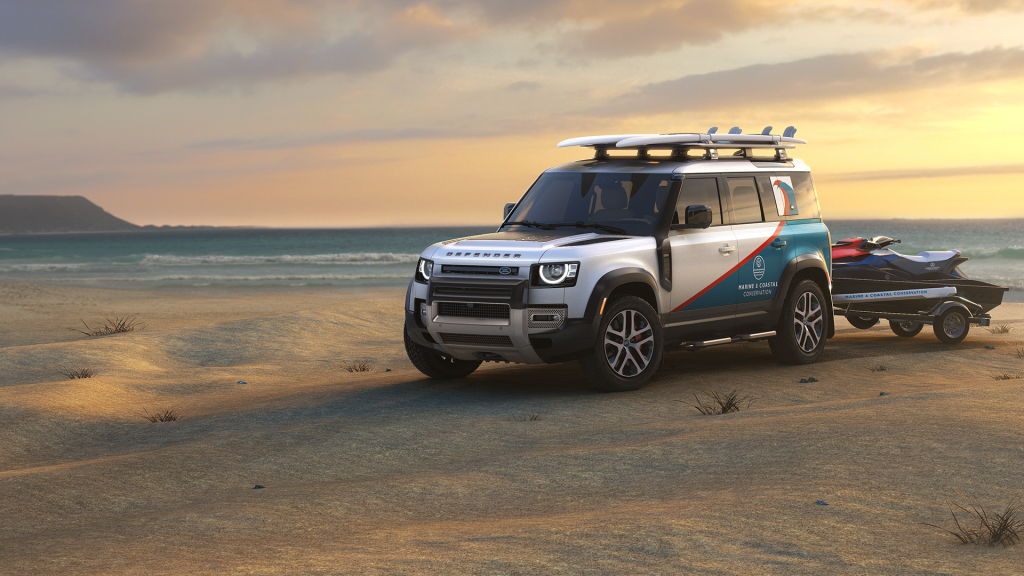
<path id="1" fill-rule="evenodd" d="M 0 234 L 130 232 L 213 227 L 140 227 L 111 214 L 81 196 L 0 194 Z"/>

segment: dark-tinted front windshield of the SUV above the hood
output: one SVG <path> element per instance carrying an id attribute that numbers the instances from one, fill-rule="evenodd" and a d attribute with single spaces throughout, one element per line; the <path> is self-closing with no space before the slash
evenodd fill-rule
<path id="1" fill-rule="evenodd" d="M 545 172 L 507 221 L 583 222 L 652 236 L 671 179 L 672 174 Z M 505 224 L 510 225 L 521 224 Z"/>

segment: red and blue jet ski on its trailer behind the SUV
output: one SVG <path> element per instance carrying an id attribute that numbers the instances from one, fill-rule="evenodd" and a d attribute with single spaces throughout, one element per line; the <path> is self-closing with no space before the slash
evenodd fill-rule
<path id="1" fill-rule="evenodd" d="M 931 324 L 939 340 L 957 343 L 971 324 L 988 326 L 987 314 L 1009 288 L 972 280 L 959 265 L 959 250 L 896 252 L 886 236 L 847 238 L 831 246 L 833 304 L 856 328 L 889 320 L 897 335 L 910 337 Z"/>

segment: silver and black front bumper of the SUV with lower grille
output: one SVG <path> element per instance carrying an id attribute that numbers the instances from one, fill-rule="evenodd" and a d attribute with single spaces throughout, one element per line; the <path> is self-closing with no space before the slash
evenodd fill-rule
<path id="1" fill-rule="evenodd" d="M 406 311 L 417 343 L 459 360 L 556 363 L 592 349 L 596 320 L 568 319 L 561 304 L 529 304 L 528 280 L 431 282 Z"/>

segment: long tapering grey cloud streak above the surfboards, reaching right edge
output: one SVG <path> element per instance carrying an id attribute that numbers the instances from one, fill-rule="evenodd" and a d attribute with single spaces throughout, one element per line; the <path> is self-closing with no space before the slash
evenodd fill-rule
<path id="1" fill-rule="evenodd" d="M 974 84 L 1024 76 L 1024 49 L 950 52 L 892 63 L 885 52 L 829 54 L 776 65 L 684 76 L 616 97 L 601 114 L 658 114 L 734 109 L 778 94 L 814 101 Z"/>

